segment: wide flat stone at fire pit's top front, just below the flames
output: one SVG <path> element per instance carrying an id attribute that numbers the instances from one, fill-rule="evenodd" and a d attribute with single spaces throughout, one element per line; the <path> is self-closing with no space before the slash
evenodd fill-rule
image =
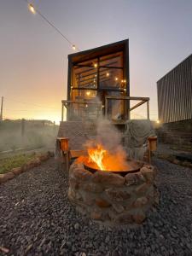
<path id="1" fill-rule="evenodd" d="M 92 181 L 94 183 L 104 183 L 108 185 L 121 186 L 125 183 L 125 178 L 119 174 L 114 174 L 112 172 L 95 172 Z"/>

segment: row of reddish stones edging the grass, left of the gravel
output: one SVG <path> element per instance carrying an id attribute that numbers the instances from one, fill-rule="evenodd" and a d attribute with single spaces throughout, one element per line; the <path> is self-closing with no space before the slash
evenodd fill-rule
<path id="1" fill-rule="evenodd" d="M 20 173 L 26 172 L 26 171 L 32 169 L 33 167 L 40 166 L 41 162 L 44 162 L 53 156 L 54 156 L 54 153 L 48 151 L 46 154 L 41 154 L 38 157 L 36 157 L 35 159 L 28 161 L 23 166 L 15 167 L 12 170 L 10 170 L 10 172 L 0 174 L 0 184 L 9 181 L 9 179 L 14 178 L 17 175 L 20 175 Z"/>

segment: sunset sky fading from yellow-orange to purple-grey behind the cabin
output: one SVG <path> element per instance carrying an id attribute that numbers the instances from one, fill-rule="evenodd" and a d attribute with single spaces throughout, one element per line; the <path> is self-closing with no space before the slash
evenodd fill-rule
<path id="1" fill-rule="evenodd" d="M 29 1 L 30 2 L 30 1 Z M 131 96 L 149 96 L 156 81 L 192 53 L 191 0 L 31 1 L 79 49 L 130 39 Z M 24 0 L 0 0 L 0 96 L 4 118 L 61 119 L 70 44 Z M 144 116 L 144 108 L 137 111 Z"/>

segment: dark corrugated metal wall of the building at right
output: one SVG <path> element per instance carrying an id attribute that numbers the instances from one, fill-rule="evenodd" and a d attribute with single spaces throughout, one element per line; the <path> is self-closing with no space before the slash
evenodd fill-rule
<path id="1" fill-rule="evenodd" d="M 157 82 L 162 123 L 192 119 L 192 55 Z"/>

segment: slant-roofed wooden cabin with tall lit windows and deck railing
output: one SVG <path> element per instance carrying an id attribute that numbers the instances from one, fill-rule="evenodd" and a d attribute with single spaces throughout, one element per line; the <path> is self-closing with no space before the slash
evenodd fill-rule
<path id="1" fill-rule="evenodd" d="M 130 108 L 130 100 L 139 100 Z M 148 98 L 130 97 L 129 40 L 68 55 L 67 120 L 130 119 L 130 111 Z M 149 114 L 148 114 L 149 118 Z"/>

